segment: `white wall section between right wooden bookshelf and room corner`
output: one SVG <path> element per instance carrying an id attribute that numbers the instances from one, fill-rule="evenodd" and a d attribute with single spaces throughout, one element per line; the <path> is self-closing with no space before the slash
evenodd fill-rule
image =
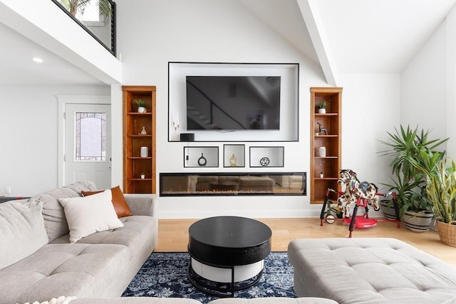
<path id="1" fill-rule="evenodd" d="M 385 150 L 379 140 L 399 123 L 400 78 L 395 74 L 342 74 L 342 167 L 352 169 L 358 178 L 389 183 L 390 159 L 380 157 Z"/>

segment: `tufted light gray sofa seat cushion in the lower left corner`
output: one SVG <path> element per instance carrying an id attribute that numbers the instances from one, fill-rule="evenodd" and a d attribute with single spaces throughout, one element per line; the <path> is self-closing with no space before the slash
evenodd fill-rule
<path id="1" fill-rule="evenodd" d="M 130 251 L 122 245 L 46 244 L 0 271 L 0 303 L 119 296 L 123 290 L 113 293 L 112 286 L 124 280 L 128 267 Z"/>

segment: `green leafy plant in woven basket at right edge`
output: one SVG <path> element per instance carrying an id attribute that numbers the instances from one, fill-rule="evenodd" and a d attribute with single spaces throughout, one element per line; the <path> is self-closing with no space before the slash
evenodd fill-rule
<path id="1" fill-rule="evenodd" d="M 437 217 L 440 241 L 456 246 L 456 162 L 431 150 L 422 152 L 423 162 L 410 159 L 410 163 L 425 174 L 427 198 Z"/>

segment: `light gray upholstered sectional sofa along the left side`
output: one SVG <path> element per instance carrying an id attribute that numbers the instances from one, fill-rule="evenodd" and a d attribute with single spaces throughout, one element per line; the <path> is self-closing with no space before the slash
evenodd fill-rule
<path id="1" fill-rule="evenodd" d="M 131 215 L 118 219 L 119 214 L 114 214 L 122 226 L 71 243 L 74 231 L 69 226 L 73 224 L 68 224 L 71 217 L 66 216 L 61 201 L 80 199 L 82 192 L 95 190 L 92 182 L 77 182 L 0 204 L 0 304 L 46 303 L 51 299 L 56 304 L 199 303 L 186 298 L 120 297 L 157 245 L 157 198 L 123 195 Z M 92 215 L 86 215 L 84 223 L 93 220 Z M 321 298 L 226 298 L 213 302 L 335 303 Z"/>

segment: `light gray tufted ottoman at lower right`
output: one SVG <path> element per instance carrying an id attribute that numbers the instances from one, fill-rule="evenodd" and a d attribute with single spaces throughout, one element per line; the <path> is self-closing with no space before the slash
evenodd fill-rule
<path id="1" fill-rule="evenodd" d="M 396 239 L 296 239 L 299 297 L 338 303 L 456 303 L 456 267 Z"/>

